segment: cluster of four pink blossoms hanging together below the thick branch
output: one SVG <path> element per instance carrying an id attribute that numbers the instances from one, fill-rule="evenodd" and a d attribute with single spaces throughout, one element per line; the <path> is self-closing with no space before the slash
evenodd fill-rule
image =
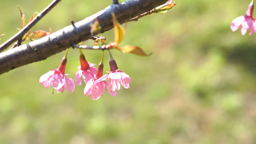
<path id="1" fill-rule="evenodd" d="M 66 77 L 64 74 L 67 59 L 66 55 L 62 59 L 60 67 L 57 70 L 51 70 L 42 75 L 39 83 L 43 84 L 46 88 L 52 86 L 57 89 L 57 92 L 64 92 L 66 89 L 69 93 L 74 91 L 74 82 L 72 79 Z M 117 67 L 115 60 L 110 59 L 109 74 L 103 75 L 103 63 L 102 61 L 98 65 L 98 69 L 94 67 L 95 64 L 91 64 L 86 61 L 84 54 L 80 49 L 80 63 L 78 72 L 75 74 L 75 84 L 81 85 L 82 78 L 85 82 L 85 96 L 90 95 L 93 100 L 97 100 L 100 96 L 103 96 L 105 89 L 108 90 L 111 96 L 116 96 L 115 90 L 119 91 L 121 87 L 130 88 L 131 78 L 129 75 L 120 71 Z"/>

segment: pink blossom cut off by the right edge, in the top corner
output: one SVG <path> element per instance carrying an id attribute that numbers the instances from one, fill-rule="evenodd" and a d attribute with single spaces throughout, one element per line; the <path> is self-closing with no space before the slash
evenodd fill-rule
<path id="1" fill-rule="evenodd" d="M 232 21 L 231 30 L 234 32 L 241 27 L 242 35 L 245 35 L 248 29 L 250 30 L 249 35 L 252 35 L 253 33 L 255 33 L 256 24 L 254 23 L 256 22 L 255 22 L 255 18 L 253 18 L 253 10 L 254 10 L 254 0 L 252 0 L 252 2 L 250 3 L 245 15 L 239 16 Z"/>

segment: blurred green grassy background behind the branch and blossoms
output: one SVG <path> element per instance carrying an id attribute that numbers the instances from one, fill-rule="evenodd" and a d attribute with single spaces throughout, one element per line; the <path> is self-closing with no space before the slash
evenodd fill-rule
<path id="1" fill-rule="evenodd" d="M 122 0 L 124 1 L 124 0 Z M 0 43 L 51 0 L 0 0 Z M 61 0 L 32 31 L 53 32 L 94 14 L 111 0 Z M 65 51 L 0 75 L 0 144 L 255 144 L 256 37 L 232 32 L 250 0 L 177 0 L 166 14 L 128 24 L 121 46 L 150 57 L 112 51 L 130 75 L 130 89 L 93 101 L 85 84 L 52 94 L 41 75 L 58 68 Z M 113 42 L 113 30 L 102 35 Z M 85 45 L 93 45 L 86 41 Z M 100 51 L 84 50 L 98 65 Z M 105 55 L 104 71 L 110 71 Z M 66 73 L 74 80 L 79 50 Z"/>

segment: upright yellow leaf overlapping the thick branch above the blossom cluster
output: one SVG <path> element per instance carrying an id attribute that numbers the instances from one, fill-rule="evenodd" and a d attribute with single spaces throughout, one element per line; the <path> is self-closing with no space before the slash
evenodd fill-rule
<path id="1" fill-rule="evenodd" d="M 115 45 L 116 47 L 122 42 L 124 34 L 125 34 L 125 29 L 122 27 L 122 25 L 117 21 L 117 18 L 115 14 L 112 12 L 112 17 L 113 17 L 113 25 L 114 25 L 114 32 L 115 32 Z"/>

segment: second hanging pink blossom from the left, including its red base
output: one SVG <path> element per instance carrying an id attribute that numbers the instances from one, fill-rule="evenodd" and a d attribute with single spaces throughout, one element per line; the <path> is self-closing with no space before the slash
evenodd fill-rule
<path id="1" fill-rule="evenodd" d="M 97 69 L 94 67 L 95 64 L 89 63 L 85 59 L 85 55 L 82 53 L 82 50 L 80 50 L 80 63 L 81 66 L 78 66 L 78 71 L 75 73 L 75 84 L 76 85 L 81 85 L 82 84 L 82 79 L 81 76 L 83 77 L 85 84 L 93 78 L 95 78 L 95 75 L 97 73 Z"/>

